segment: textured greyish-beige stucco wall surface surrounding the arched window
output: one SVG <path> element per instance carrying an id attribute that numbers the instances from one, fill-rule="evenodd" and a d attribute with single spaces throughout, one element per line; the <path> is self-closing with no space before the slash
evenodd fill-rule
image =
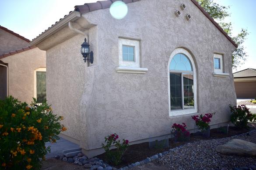
<path id="1" fill-rule="evenodd" d="M 231 70 L 235 47 L 191 1 L 176 17 L 182 3 L 129 3 L 123 20 L 112 18 L 109 9 L 84 14 L 96 25 L 87 30 L 95 57 L 90 67 L 80 54 L 83 35 L 46 51 L 47 99 L 56 113 L 66 116 L 68 130 L 63 134 L 80 141 L 84 150 L 93 150 L 110 133 L 138 141 L 169 134 L 173 123 L 186 122 L 188 129 L 194 129 L 191 115 L 169 117 L 168 113 L 167 65 L 176 48 L 186 49 L 194 59 L 198 113 L 216 112 L 212 125 L 229 121 L 228 105 L 236 103 Z M 186 14 L 191 15 L 190 21 Z M 58 34 L 65 37 L 65 31 Z M 140 67 L 148 68 L 146 74 L 116 72 L 119 37 L 140 40 Z M 213 76 L 214 53 L 223 54 L 228 77 Z"/>

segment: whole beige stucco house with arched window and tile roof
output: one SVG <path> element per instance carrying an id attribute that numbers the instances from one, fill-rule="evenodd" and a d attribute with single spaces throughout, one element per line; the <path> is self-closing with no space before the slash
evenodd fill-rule
<path id="1" fill-rule="evenodd" d="M 226 125 L 235 42 L 196 0 L 123 0 L 121 20 L 112 1 L 76 6 L 30 43 L 46 51 L 47 100 L 68 129 L 61 136 L 94 156 L 111 133 L 131 144 L 165 139 L 173 123 L 193 130 L 191 116 L 208 112 L 216 112 L 211 127 Z"/>

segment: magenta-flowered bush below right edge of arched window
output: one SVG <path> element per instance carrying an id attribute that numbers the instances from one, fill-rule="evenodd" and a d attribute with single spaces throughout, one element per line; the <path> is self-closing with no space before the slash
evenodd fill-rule
<path id="1" fill-rule="evenodd" d="M 214 116 L 214 114 L 215 112 L 206 113 L 204 116 L 203 114 L 201 114 L 200 116 L 196 115 L 192 116 L 192 119 L 196 122 L 196 126 L 198 127 L 198 129 L 200 129 L 201 131 L 206 131 L 210 127 L 210 119 L 212 118 L 212 116 Z"/>

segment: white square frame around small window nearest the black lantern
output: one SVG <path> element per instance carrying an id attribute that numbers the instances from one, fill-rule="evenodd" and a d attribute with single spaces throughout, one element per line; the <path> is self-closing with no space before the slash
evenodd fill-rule
<path id="1" fill-rule="evenodd" d="M 134 61 L 123 61 L 123 45 L 134 47 Z M 140 68 L 140 41 L 119 38 L 119 66 Z"/>

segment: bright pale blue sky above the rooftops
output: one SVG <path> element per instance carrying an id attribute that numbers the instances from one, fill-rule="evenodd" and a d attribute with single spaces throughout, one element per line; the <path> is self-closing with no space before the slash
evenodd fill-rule
<path id="1" fill-rule="evenodd" d="M 95 1 L 97 0 L 0 0 L 0 25 L 32 40 L 69 11 L 74 10 L 75 5 Z M 234 35 L 238 34 L 241 28 L 248 29 L 250 33 L 244 43 L 249 57 L 238 71 L 256 68 L 256 0 L 214 1 L 230 6 L 228 11 L 231 17 L 226 21 L 232 23 Z"/>

